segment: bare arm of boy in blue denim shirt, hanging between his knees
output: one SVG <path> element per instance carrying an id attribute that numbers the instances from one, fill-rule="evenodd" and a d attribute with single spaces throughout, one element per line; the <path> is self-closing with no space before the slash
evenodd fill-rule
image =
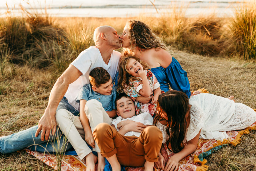
<path id="1" fill-rule="evenodd" d="M 92 135 L 92 130 L 90 127 L 89 119 L 86 116 L 86 113 L 84 112 L 84 107 L 86 104 L 86 100 L 80 100 L 80 121 L 82 123 L 82 126 L 84 128 L 85 132 L 85 141 L 93 148 L 95 148 L 95 142 Z"/>

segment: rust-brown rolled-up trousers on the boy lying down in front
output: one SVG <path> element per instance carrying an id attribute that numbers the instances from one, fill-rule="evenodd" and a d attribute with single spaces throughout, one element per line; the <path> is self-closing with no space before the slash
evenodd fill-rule
<path id="1" fill-rule="evenodd" d="M 93 132 L 103 157 L 116 154 L 123 166 L 143 166 L 147 161 L 157 162 L 162 145 L 162 132 L 156 126 L 146 127 L 136 136 L 124 136 L 107 123 L 98 124 Z"/>

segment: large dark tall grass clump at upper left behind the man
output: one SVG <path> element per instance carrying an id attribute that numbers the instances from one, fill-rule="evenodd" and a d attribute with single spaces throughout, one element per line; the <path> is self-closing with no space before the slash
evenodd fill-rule
<path id="1" fill-rule="evenodd" d="M 22 7 L 21 7 L 22 8 Z M 45 67 L 50 64 L 44 56 L 42 46 L 54 41 L 59 46 L 68 48 L 68 39 L 62 28 L 53 24 L 47 15 L 31 14 L 23 9 L 25 17 L 7 17 L 0 20 L 0 40 L 13 54 L 13 63 L 29 63 L 31 66 Z"/>

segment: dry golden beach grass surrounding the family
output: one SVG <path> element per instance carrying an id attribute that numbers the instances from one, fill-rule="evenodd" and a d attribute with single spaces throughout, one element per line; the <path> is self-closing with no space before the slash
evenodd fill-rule
<path id="1" fill-rule="evenodd" d="M 233 18 L 185 18 L 172 11 L 160 18 L 132 19 L 147 23 L 169 45 L 188 72 L 191 90 L 234 95 L 236 102 L 256 108 L 256 5 L 243 9 Z M 26 10 L 24 18 L 0 18 L 0 136 L 36 125 L 58 76 L 93 45 L 93 30 L 111 25 L 121 33 L 127 20 L 53 18 Z M 242 139 L 207 157 L 209 170 L 256 170 L 256 131 Z M 21 150 L 0 154 L 0 170 L 53 169 Z"/>

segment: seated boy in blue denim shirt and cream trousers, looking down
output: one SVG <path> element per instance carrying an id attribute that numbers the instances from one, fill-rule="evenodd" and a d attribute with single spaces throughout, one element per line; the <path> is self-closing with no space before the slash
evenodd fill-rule
<path id="1" fill-rule="evenodd" d="M 101 156 L 92 132 L 99 123 L 105 122 L 111 125 L 112 118 L 116 116 L 116 91 L 111 76 L 102 67 L 91 70 L 89 80 L 90 84 L 86 84 L 80 89 L 76 99 L 77 102 L 80 102 L 80 117 L 74 116 L 67 110 L 65 112 L 57 111 L 56 121 L 79 158 L 82 160 L 85 157 L 86 170 L 94 170 L 96 159 L 86 142 L 93 147 L 93 151 L 98 153 L 97 170 L 99 171 L 104 169 L 105 158 Z"/>

